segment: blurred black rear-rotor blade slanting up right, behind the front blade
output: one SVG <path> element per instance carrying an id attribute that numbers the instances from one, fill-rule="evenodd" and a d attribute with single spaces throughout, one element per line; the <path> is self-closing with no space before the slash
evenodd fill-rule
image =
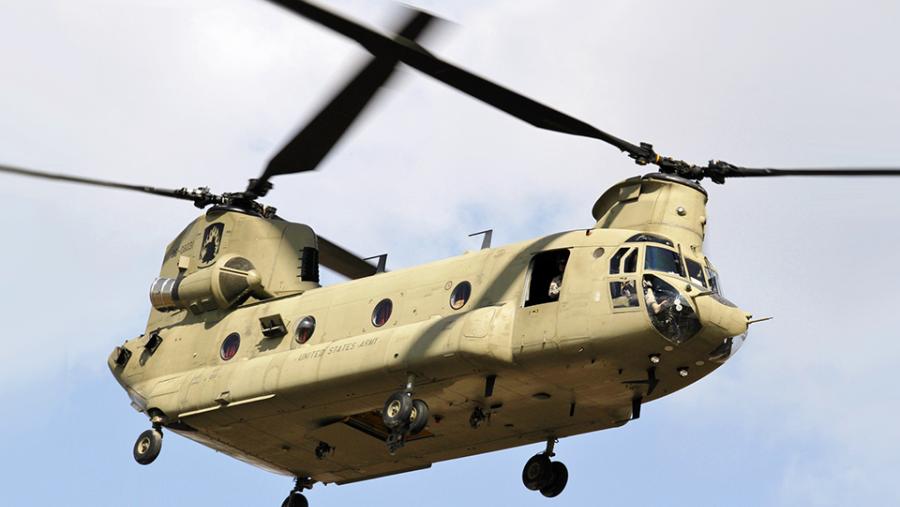
<path id="1" fill-rule="evenodd" d="M 398 35 L 415 40 L 434 19 L 428 13 L 412 11 Z M 247 191 L 262 196 L 268 191 L 268 180 L 272 176 L 315 169 L 391 77 L 397 63 L 398 58 L 392 54 L 377 54 L 372 58 L 315 118 L 272 157 L 262 176 L 251 180 Z"/>

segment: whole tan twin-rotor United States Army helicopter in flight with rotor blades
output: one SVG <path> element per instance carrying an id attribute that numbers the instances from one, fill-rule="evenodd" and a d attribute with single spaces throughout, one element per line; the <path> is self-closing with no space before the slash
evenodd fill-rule
<path id="1" fill-rule="evenodd" d="M 533 442 L 525 486 L 555 496 L 558 438 L 621 426 L 642 403 L 715 370 L 751 318 L 721 294 L 703 253 L 704 178 L 898 175 L 898 170 L 694 166 L 600 131 L 431 55 L 416 13 L 393 38 L 313 5 L 278 3 L 340 33 L 372 61 L 243 192 L 165 190 L 43 176 L 192 201 L 206 212 L 166 249 L 145 332 L 113 375 L 152 428 L 297 478 L 348 483 Z M 614 185 L 596 223 L 385 272 L 259 203 L 277 175 L 313 170 L 398 63 L 538 127 L 594 137 L 657 173 Z M 486 237 L 487 239 L 487 237 Z M 319 265 L 353 281 L 319 286 Z M 489 420 L 501 424 L 486 424 Z"/>

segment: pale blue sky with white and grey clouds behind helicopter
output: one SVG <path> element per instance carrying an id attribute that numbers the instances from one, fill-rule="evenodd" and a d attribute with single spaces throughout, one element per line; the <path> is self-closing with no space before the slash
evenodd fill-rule
<path id="1" fill-rule="evenodd" d="M 889 0 L 417 1 L 425 46 L 695 163 L 900 166 L 900 4 Z M 387 0 L 327 5 L 383 30 Z M 0 0 L 0 164 L 161 187 L 244 188 L 367 54 L 261 0 Z M 401 68 L 315 173 L 266 203 L 400 269 L 589 227 L 642 172 Z M 314 506 L 900 504 L 900 179 L 706 184 L 705 251 L 758 317 L 714 374 L 623 428 L 562 440 L 566 491 L 520 482 L 542 446 L 347 486 Z M 187 203 L 0 175 L 2 505 L 280 505 L 272 475 L 147 428 L 106 368 L 139 335 Z"/>

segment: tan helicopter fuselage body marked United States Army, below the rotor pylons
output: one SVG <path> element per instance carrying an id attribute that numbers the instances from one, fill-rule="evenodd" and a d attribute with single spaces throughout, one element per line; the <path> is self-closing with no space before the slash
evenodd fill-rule
<path id="1" fill-rule="evenodd" d="M 696 336 L 678 345 L 666 340 L 643 297 L 616 307 L 611 283 L 640 283 L 643 270 L 610 274 L 610 260 L 637 232 L 577 230 L 230 311 L 181 310 L 169 316 L 172 324 L 126 343 L 134 357 L 124 368 L 113 356 L 109 364 L 136 407 L 171 429 L 258 466 L 323 482 L 619 426 L 631 418 L 636 397 L 646 402 L 712 372 L 719 363 L 711 351 L 746 330 L 738 309 L 666 274 L 657 275 L 686 289 L 703 322 Z M 676 238 L 686 258 L 703 261 L 690 240 Z M 527 305 L 533 259 L 548 251 L 569 252 L 559 299 Z M 464 281 L 471 296 L 454 310 L 451 293 Z M 373 309 L 383 299 L 393 309 L 375 327 Z M 260 319 L 272 316 L 281 317 L 287 334 L 263 335 Z M 295 329 L 306 316 L 316 327 L 301 344 Z M 144 348 L 149 331 L 162 339 L 152 354 Z M 224 360 L 222 342 L 233 333 L 240 346 Z M 659 383 L 648 394 L 651 366 Z M 685 368 L 687 376 L 679 373 Z M 391 456 L 350 419 L 372 420 L 366 414 L 410 375 L 432 419 L 421 438 Z M 496 376 L 492 392 L 489 376 Z M 477 429 L 469 421 L 476 408 L 488 415 Z M 321 459 L 314 452 L 320 442 L 333 448 Z"/>

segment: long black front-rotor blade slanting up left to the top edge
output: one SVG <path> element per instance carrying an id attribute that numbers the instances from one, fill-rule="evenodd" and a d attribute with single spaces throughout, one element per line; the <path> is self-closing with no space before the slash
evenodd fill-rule
<path id="1" fill-rule="evenodd" d="M 410 67 L 536 127 L 600 139 L 628 153 L 639 163 L 650 163 L 655 157 L 649 147 L 635 146 L 584 121 L 441 60 L 410 40 L 391 39 L 371 28 L 303 0 L 268 1 L 355 40 L 376 56 L 396 58 Z"/>

